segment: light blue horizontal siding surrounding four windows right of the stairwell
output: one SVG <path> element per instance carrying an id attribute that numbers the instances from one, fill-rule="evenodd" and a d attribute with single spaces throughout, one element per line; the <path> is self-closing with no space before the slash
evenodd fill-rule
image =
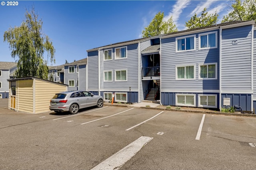
<path id="1" fill-rule="evenodd" d="M 215 30 L 216 31 L 216 30 Z M 213 32 L 213 31 L 211 31 Z M 219 79 L 215 80 L 198 80 L 198 64 L 218 63 L 219 61 L 219 44 L 218 48 L 198 50 L 198 34 L 196 35 L 196 50 L 176 53 L 176 37 L 164 38 L 161 43 L 161 90 L 164 92 L 172 90 L 218 90 Z M 219 32 L 218 32 L 219 34 Z M 219 36 L 218 36 L 219 37 Z M 195 65 L 195 80 L 176 80 L 176 66 L 178 65 Z M 219 77 L 219 64 L 217 66 Z"/>

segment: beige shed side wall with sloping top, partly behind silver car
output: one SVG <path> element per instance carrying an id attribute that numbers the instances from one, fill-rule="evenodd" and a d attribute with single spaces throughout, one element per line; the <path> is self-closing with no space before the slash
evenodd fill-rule
<path id="1" fill-rule="evenodd" d="M 42 80 L 35 80 L 35 113 L 50 111 L 50 99 L 59 92 L 66 91 L 67 87 Z"/>

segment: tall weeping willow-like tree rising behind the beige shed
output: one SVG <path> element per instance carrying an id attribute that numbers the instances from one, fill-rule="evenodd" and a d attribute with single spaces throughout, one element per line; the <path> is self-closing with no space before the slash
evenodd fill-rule
<path id="1" fill-rule="evenodd" d="M 4 42 L 9 43 L 11 56 L 18 57 L 17 77 L 39 77 L 48 79 L 48 59 L 44 59 L 44 52 L 50 57 L 51 63 L 55 63 L 55 49 L 47 35 L 42 33 L 42 20 L 38 20 L 38 14 L 34 7 L 25 13 L 26 20 L 19 27 L 10 27 L 4 32 Z"/>

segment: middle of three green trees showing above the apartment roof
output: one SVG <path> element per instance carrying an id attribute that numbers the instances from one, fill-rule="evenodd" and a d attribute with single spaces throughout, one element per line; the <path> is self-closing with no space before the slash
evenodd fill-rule
<path id="1" fill-rule="evenodd" d="M 215 14 L 208 14 L 206 12 L 206 8 L 202 11 L 202 14 L 200 17 L 195 14 L 186 22 L 185 26 L 188 29 L 194 29 L 194 28 L 200 28 L 200 27 L 205 27 L 205 26 L 212 26 L 217 24 L 218 21 L 218 14 L 215 12 Z"/>

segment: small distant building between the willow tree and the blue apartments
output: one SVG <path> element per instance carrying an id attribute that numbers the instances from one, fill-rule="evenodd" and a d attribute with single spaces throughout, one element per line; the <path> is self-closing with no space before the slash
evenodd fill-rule
<path id="1" fill-rule="evenodd" d="M 57 82 L 57 83 L 64 83 L 64 64 L 58 66 L 48 66 L 49 74 L 48 80 Z"/>

